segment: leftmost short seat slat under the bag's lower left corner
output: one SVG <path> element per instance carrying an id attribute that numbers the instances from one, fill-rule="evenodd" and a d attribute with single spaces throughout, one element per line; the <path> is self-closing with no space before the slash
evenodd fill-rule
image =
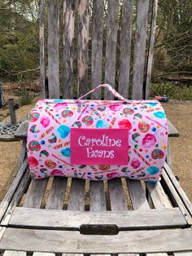
<path id="1" fill-rule="evenodd" d="M 24 201 L 24 207 L 40 208 L 49 179 L 33 179 Z"/>

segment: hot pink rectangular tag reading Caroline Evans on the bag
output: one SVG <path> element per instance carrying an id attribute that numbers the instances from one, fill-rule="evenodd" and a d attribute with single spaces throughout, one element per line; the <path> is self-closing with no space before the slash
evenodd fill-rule
<path id="1" fill-rule="evenodd" d="M 72 165 L 128 165 L 128 129 L 71 129 Z"/>

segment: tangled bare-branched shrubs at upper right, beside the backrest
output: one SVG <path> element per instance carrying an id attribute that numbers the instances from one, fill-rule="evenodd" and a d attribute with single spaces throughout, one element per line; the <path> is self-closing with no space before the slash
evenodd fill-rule
<path id="1" fill-rule="evenodd" d="M 159 0 L 154 63 L 159 72 L 191 71 L 191 16 L 191 0 Z"/>

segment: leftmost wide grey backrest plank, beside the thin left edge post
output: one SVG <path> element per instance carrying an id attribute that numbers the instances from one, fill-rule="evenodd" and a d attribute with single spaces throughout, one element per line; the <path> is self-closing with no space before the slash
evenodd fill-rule
<path id="1" fill-rule="evenodd" d="M 47 0 L 49 98 L 59 99 L 59 1 Z"/>

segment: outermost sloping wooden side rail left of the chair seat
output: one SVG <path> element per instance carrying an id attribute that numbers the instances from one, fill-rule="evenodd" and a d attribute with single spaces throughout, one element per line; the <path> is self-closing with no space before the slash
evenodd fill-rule
<path id="1" fill-rule="evenodd" d="M 20 170 L 18 170 L 18 173 L 15 176 L 15 179 L 11 183 L 11 186 L 10 186 L 9 190 L 7 191 L 6 196 L 4 197 L 4 199 L 2 200 L 2 202 L 0 204 L 0 222 L 2 221 L 2 217 L 5 214 L 5 212 L 7 211 L 7 208 L 9 207 L 11 200 L 12 200 L 13 196 L 15 195 L 15 192 L 19 187 L 19 184 L 20 184 L 27 168 L 28 168 L 28 160 L 25 159 L 23 165 L 20 167 Z"/>

